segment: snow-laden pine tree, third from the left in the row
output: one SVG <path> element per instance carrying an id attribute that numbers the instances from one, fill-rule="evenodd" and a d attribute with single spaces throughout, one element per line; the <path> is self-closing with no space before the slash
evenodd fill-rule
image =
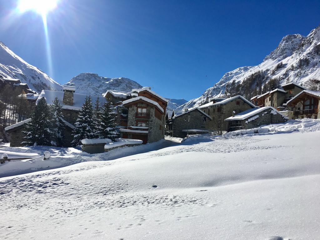
<path id="1" fill-rule="evenodd" d="M 94 137 L 94 123 L 92 121 L 93 108 L 92 100 L 90 96 L 85 98 L 84 104 L 81 107 L 81 111 L 78 115 L 75 123 L 75 129 L 73 130 L 73 140 L 71 145 L 76 147 L 81 145 L 82 139 L 92 139 Z"/>

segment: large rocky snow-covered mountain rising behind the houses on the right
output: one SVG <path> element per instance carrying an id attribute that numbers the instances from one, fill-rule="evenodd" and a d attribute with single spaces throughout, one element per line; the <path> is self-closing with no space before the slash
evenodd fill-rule
<path id="1" fill-rule="evenodd" d="M 259 77 L 262 85 L 268 83 L 270 79 L 276 79 L 279 84 L 286 82 L 303 84 L 308 79 L 320 79 L 320 26 L 313 29 L 306 37 L 300 34 L 284 36 L 278 47 L 266 56 L 262 63 L 257 66 L 240 67 L 226 73 L 200 97 L 188 101 L 179 109 L 196 107 L 207 98 L 222 96 L 226 86 L 232 83 L 244 84 L 245 80 L 250 79 L 251 91 L 259 87 L 254 85 L 257 84 Z M 243 88 L 248 88 L 248 85 Z"/>

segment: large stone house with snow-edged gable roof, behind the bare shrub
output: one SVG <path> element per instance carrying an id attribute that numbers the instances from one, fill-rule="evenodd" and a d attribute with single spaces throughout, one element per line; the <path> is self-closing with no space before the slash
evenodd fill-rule
<path id="1" fill-rule="evenodd" d="M 218 102 L 212 101 L 199 107 L 212 118 L 212 121 L 206 121 L 205 123 L 205 129 L 212 132 L 228 131 L 228 124 L 224 119 L 232 116 L 233 112 L 237 114 L 251 108 L 256 108 L 256 106 L 241 95 Z"/>

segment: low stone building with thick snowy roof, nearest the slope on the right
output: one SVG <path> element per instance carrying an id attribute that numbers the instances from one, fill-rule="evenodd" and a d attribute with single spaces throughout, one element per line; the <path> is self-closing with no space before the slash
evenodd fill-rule
<path id="1" fill-rule="evenodd" d="M 284 123 L 287 117 L 271 106 L 251 108 L 224 120 L 228 124 L 228 132 L 250 129 L 261 125 Z"/>

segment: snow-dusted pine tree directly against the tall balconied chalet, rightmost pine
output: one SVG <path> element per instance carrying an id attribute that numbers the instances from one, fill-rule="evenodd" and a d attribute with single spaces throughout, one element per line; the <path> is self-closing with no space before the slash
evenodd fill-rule
<path id="1" fill-rule="evenodd" d="M 102 116 L 101 116 L 101 127 L 102 134 L 101 138 L 109 138 L 112 141 L 115 141 L 116 138 L 119 138 L 119 132 L 116 131 L 116 110 L 110 100 L 103 104 L 102 107 Z"/>

